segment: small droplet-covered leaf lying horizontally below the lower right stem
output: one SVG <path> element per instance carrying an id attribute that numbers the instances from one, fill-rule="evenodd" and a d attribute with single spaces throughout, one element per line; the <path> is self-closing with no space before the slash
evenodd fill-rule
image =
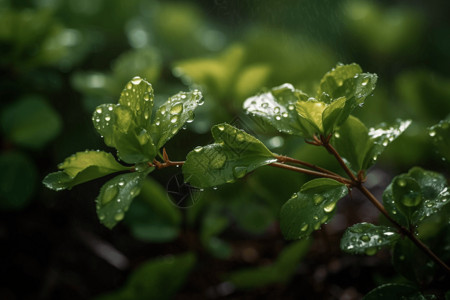
<path id="1" fill-rule="evenodd" d="M 393 246 L 400 238 L 394 228 L 370 223 L 355 224 L 345 231 L 341 250 L 352 254 L 374 255 L 382 247 Z"/>

